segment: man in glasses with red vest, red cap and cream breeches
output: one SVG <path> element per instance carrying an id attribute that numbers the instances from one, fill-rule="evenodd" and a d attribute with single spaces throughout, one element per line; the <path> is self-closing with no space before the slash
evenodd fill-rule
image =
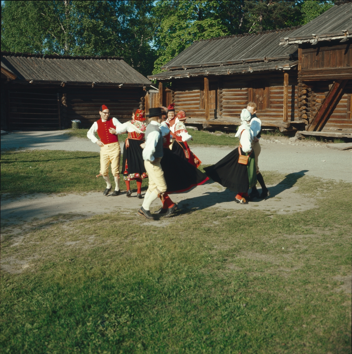
<path id="1" fill-rule="evenodd" d="M 120 158 L 121 149 L 118 142 L 116 127 L 121 123 L 116 118 L 110 117 L 110 110 L 103 104 L 99 110 L 100 119 L 93 123 L 87 133 L 87 137 L 100 146 L 100 173 L 97 175 L 103 176 L 106 182 L 106 189 L 104 195 L 108 195 L 111 191 L 112 185 L 109 178 L 109 164 L 111 164 L 111 173 L 115 180 L 115 190 L 111 196 L 116 196 L 120 191 Z M 98 133 L 100 139 L 97 139 L 95 133 Z"/>

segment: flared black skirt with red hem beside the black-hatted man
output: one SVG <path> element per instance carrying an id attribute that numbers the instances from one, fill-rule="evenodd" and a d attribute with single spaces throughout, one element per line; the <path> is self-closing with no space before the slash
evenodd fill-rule
<path id="1" fill-rule="evenodd" d="M 185 192 L 209 179 L 195 166 L 173 154 L 170 149 L 163 149 L 163 152 L 160 164 L 164 172 L 167 193 Z"/>

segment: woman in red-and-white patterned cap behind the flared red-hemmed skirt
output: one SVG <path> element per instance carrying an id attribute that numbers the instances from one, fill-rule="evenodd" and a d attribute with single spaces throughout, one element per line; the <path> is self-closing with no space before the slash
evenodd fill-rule
<path id="1" fill-rule="evenodd" d="M 168 119 L 170 125 L 170 131 L 172 137 L 175 139 L 172 144 L 171 151 L 188 161 L 193 166 L 198 167 L 202 161 L 193 154 L 187 144 L 188 141 L 193 140 L 192 136 L 188 134 L 185 126 L 186 113 L 184 111 L 179 111 L 172 119 Z"/>

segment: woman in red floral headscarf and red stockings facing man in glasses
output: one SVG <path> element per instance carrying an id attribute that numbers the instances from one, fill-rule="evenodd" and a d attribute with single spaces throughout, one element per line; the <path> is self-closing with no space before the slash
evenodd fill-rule
<path id="1" fill-rule="evenodd" d="M 137 198 L 139 199 L 143 198 L 141 195 L 142 179 L 148 177 L 142 156 L 143 149 L 140 147 L 140 144 L 144 142 L 147 127 L 144 113 L 143 109 L 135 109 L 132 113 L 132 120 L 123 123 L 118 130 L 118 134 L 128 133 L 123 147 L 122 160 L 123 178 L 127 188 L 126 196 L 132 195 L 130 181 L 135 179 L 137 182 Z"/>

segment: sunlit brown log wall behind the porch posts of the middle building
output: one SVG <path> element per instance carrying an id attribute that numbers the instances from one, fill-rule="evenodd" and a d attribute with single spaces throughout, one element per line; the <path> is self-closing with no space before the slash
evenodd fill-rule
<path id="1" fill-rule="evenodd" d="M 268 79 L 266 79 L 268 78 Z M 176 82 L 174 102 L 176 110 L 184 110 L 190 118 L 206 119 L 205 86 L 202 82 Z M 258 116 L 267 121 L 283 121 L 284 73 L 231 76 L 210 81 L 209 119 L 239 118 L 249 101 L 258 105 Z M 298 120 L 297 72 L 289 74 L 288 121 Z"/>

